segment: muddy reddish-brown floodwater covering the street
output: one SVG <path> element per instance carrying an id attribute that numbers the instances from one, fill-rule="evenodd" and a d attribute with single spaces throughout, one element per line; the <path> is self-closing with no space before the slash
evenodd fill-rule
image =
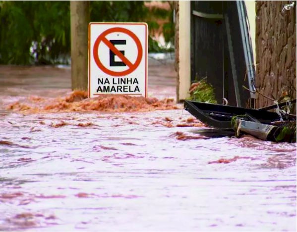
<path id="1" fill-rule="evenodd" d="M 296 143 L 202 136 L 157 74 L 103 102 L 0 67 L 0 231 L 296 231 Z"/>

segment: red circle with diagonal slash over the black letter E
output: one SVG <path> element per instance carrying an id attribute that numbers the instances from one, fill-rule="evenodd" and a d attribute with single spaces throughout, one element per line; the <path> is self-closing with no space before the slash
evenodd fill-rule
<path id="1" fill-rule="evenodd" d="M 124 34 L 127 34 L 128 36 L 130 36 L 133 41 L 135 42 L 136 46 L 137 46 L 137 58 L 136 58 L 136 61 L 135 63 L 131 63 L 120 51 L 118 48 L 116 48 L 108 39 L 106 39 L 106 36 L 108 34 L 111 34 L 113 32 L 122 32 Z M 98 55 L 98 48 L 99 48 L 99 44 L 103 42 L 106 46 L 108 46 L 121 60 L 122 62 L 124 62 L 129 68 L 127 70 L 124 70 L 124 71 L 120 71 L 120 72 L 116 72 L 116 71 L 112 71 L 108 68 L 106 68 L 100 61 L 99 59 L 99 55 Z M 98 36 L 98 38 L 96 39 L 95 41 L 95 44 L 94 44 L 94 47 L 93 47 L 93 56 L 94 56 L 94 60 L 95 60 L 95 63 L 97 64 L 97 66 L 103 71 L 105 72 L 106 74 L 109 74 L 111 76 L 125 76 L 125 75 L 128 75 L 130 74 L 131 72 L 133 72 L 137 67 L 138 65 L 140 64 L 141 62 L 141 58 L 142 58 L 142 46 L 141 46 L 141 43 L 139 41 L 139 39 L 137 38 L 137 36 L 125 29 L 125 28 L 121 28 L 121 27 L 115 27 L 115 28 L 111 28 L 111 29 L 108 29 L 106 31 L 104 31 L 100 36 Z"/>

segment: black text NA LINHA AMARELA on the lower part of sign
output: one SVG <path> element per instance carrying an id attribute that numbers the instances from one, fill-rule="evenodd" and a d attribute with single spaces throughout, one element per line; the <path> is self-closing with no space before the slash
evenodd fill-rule
<path id="1" fill-rule="evenodd" d="M 97 93 L 139 93 L 137 78 L 98 78 Z"/>

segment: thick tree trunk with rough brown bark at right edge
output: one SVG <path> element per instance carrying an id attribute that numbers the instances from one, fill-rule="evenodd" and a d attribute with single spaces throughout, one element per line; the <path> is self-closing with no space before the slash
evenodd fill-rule
<path id="1" fill-rule="evenodd" d="M 287 87 L 296 98 L 296 6 L 289 1 L 256 1 L 256 84 L 260 93 L 279 99 Z M 259 95 L 257 107 L 273 104 Z"/>

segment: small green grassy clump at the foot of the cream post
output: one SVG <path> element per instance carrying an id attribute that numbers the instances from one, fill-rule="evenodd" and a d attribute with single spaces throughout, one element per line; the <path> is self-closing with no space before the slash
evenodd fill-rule
<path id="1" fill-rule="evenodd" d="M 190 100 L 207 102 L 217 104 L 215 98 L 214 88 L 211 84 L 205 81 L 206 78 L 203 78 L 200 81 L 195 81 L 189 90 Z"/>

